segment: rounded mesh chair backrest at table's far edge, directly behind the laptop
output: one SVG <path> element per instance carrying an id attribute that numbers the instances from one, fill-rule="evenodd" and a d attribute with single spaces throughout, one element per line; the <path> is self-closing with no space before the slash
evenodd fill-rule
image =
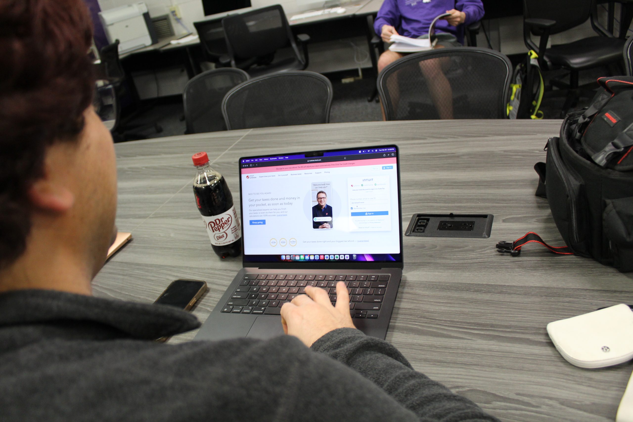
<path id="1" fill-rule="evenodd" d="M 332 84 L 319 73 L 286 71 L 253 78 L 227 92 L 222 115 L 229 130 L 330 121 Z"/>

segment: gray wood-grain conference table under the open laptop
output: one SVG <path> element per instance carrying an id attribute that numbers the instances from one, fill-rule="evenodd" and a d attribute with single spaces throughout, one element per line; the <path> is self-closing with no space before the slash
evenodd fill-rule
<path id="1" fill-rule="evenodd" d="M 411 364 L 505 421 L 609 421 L 630 364 L 580 369 L 549 340 L 550 321 L 630 303 L 633 274 L 591 259 L 498 240 L 534 231 L 562 240 L 532 166 L 561 121 L 400 121 L 261 128 L 116 145 L 118 227 L 132 232 L 94 280 L 99 297 L 151 303 L 177 278 L 206 280 L 204 321 L 241 259 L 220 259 L 194 204 L 191 155 L 207 151 L 239 201 L 237 159 L 265 153 L 395 143 L 403 230 L 413 213 L 494 214 L 490 239 L 404 237 L 404 276 L 387 340 Z M 237 206 L 237 203 L 236 203 Z M 172 338 L 191 340 L 194 332 Z M 212 356 L 209 357 L 213 359 Z"/>

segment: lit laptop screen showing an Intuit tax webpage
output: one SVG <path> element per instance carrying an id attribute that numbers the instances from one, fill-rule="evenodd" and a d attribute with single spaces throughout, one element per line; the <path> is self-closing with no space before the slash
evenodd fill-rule
<path id="1" fill-rule="evenodd" d="M 244 262 L 402 262 L 398 147 L 239 161 Z"/>

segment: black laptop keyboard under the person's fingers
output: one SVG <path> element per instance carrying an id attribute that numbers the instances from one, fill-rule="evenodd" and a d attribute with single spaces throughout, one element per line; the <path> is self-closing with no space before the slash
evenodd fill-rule
<path id="1" fill-rule="evenodd" d="M 305 293 L 308 286 L 321 287 L 336 302 L 336 283 L 345 282 L 352 318 L 378 318 L 389 274 L 246 274 L 222 312 L 279 315 L 284 303 Z"/>

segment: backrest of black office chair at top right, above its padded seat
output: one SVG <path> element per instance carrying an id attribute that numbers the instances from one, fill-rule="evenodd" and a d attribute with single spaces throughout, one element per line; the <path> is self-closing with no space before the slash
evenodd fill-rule
<path id="1" fill-rule="evenodd" d="M 550 34 L 558 34 L 581 23 L 591 16 L 595 0 L 523 0 L 523 17 L 525 19 L 551 19 L 556 25 L 551 27 Z M 540 35 L 536 32 L 534 35 Z"/>

